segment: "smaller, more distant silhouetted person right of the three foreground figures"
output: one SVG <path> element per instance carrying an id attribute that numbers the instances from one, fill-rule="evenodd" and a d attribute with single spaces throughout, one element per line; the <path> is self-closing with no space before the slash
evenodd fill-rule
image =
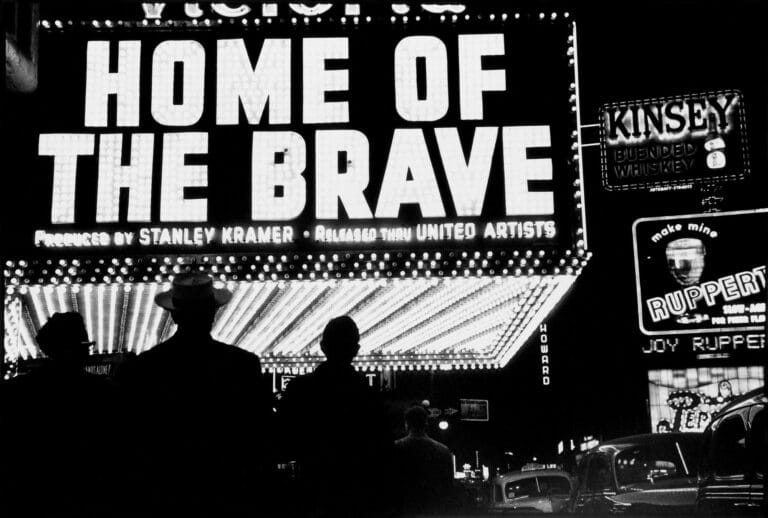
<path id="1" fill-rule="evenodd" d="M 408 435 L 395 441 L 400 495 L 408 513 L 436 511 L 450 496 L 453 456 L 427 435 L 427 411 L 413 406 L 405 413 Z"/>

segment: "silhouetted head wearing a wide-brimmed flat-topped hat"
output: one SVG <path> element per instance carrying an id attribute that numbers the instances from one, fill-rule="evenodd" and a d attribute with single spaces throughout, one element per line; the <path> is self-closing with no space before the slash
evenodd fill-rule
<path id="1" fill-rule="evenodd" d="M 229 302 L 232 294 L 213 287 L 213 279 L 202 273 L 182 273 L 174 277 L 171 289 L 158 294 L 155 302 L 171 312 L 181 332 L 208 334 L 216 311 Z"/>

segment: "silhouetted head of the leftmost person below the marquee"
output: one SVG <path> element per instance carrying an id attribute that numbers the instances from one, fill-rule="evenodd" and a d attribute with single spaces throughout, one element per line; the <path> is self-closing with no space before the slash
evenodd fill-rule
<path id="1" fill-rule="evenodd" d="M 93 342 L 80 313 L 54 313 L 36 337 L 37 343 L 51 360 L 83 365 Z"/>

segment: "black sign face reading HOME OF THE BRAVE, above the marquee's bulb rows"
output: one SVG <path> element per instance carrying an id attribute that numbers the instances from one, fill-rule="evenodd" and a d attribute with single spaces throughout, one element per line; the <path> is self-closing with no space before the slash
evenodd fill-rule
<path id="1" fill-rule="evenodd" d="M 14 242 L 574 248 L 572 24 L 437 19 L 45 32 Z"/>

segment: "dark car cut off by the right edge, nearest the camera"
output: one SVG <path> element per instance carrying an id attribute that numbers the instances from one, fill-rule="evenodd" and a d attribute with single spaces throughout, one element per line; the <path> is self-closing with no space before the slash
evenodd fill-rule
<path id="1" fill-rule="evenodd" d="M 729 403 L 704 430 L 697 510 L 765 515 L 765 387 Z"/>

